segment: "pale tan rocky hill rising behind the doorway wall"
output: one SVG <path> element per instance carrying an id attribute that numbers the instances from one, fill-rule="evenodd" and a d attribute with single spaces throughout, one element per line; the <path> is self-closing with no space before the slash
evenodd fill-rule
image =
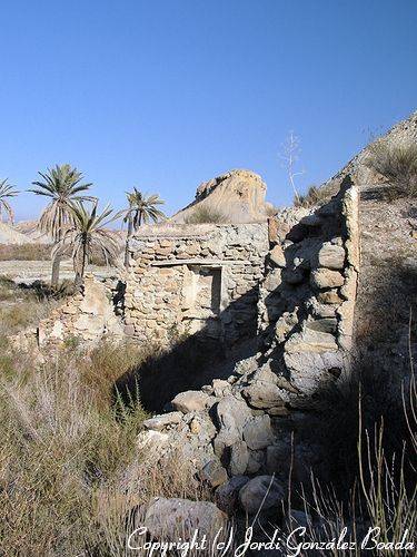
<path id="1" fill-rule="evenodd" d="M 230 170 L 202 183 L 197 188 L 196 201 L 172 216 L 175 223 L 185 223 L 198 208 L 209 208 L 228 223 L 265 221 L 270 207 L 265 202 L 266 184 L 250 170 Z"/>

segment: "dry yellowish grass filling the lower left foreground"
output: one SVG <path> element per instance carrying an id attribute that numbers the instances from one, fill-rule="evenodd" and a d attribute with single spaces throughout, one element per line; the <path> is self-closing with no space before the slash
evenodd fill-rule
<path id="1" fill-rule="evenodd" d="M 138 455 L 140 403 L 112 398 L 143 355 L 105 343 L 0 362 L 0 555 L 120 555 L 135 506 L 196 497 L 183 463 L 161 470 Z"/>

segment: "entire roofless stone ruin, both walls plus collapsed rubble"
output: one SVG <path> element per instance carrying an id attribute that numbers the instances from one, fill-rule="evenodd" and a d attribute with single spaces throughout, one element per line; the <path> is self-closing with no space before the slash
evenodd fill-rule
<path id="1" fill-rule="evenodd" d="M 88 276 L 82 292 L 39 324 L 38 343 L 107 336 L 169 346 L 173 335 L 231 348 L 257 338 L 257 353 L 229 377 L 178 393 L 138 438 L 156 459 L 180 448 L 218 490 L 220 508 L 239 491 L 250 511 L 260 504 L 251 482 L 278 471 L 274 481 L 284 485 L 291 442 L 296 479 L 322 465 L 300 423 L 307 416 L 311 430 L 316 394 L 349 373 L 357 223 L 357 190 L 345 177 L 316 211 L 286 209 L 258 223 L 143 226 L 119 280 Z"/>

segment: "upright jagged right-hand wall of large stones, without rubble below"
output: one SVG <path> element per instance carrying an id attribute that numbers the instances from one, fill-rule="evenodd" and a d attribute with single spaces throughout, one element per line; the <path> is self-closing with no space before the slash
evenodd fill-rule
<path id="1" fill-rule="evenodd" d="M 277 368 L 301 392 L 310 394 L 348 364 L 358 241 L 358 196 L 349 177 L 289 231 L 285 219 L 278 224 L 261 284 L 261 349 L 279 354 Z"/>

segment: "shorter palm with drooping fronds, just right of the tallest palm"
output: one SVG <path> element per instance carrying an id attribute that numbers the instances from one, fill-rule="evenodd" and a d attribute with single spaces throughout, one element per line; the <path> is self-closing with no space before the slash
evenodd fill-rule
<path id="1" fill-rule="evenodd" d="M 86 266 L 91 260 L 95 251 L 101 252 L 107 264 L 116 264 L 119 254 L 119 244 L 115 233 L 106 229 L 106 226 L 118 218 L 107 205 L 98 213 L 97 201 L 91 209 L 85 203 L 76 201 L 69 205 L 70 225 L 60 241 L 53 247 L 52 256 L 57 253 L 63 254 L 71 251 L 73 270 L 76 272 L 76 284 L 83 281 Z"/>

